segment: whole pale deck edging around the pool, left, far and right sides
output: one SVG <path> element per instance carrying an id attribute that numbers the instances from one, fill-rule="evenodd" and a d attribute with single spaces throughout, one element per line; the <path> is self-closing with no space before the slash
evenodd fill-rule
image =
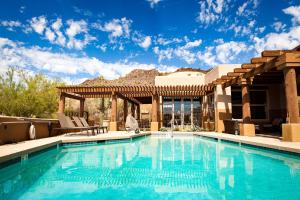
<path id="1" fill-rule="evenodd" d="M 106 140 L 126 140 L 135 137 L 142 137 L 150 135 L 151 133 L 125 133 L 125 132 L 109 132 L 105 134 L 99 134 L 96 136 L 87 136 L 80 134 L 68 134 L 51 138 L 44 138 L 38 140 L 30 140 L 25 142 L 20 142 L 17 144 L 7 144 L 0 146 L 0 163 L 20 158 L 26 154 L 37 152 L 49 147 L 53 147 L 61 143 L 80 143 L 80 142 L 100 142 Z M 152 133 L 154 135 L 168 135 L 169 133 L 157 132 Z M 197 135 L 201 137 L 215 138 L 218 140 L 225 140 L 236 142 L 239 144 L 247 144 L 258 147 L 276 149 L 280 151 L 287 151 L 292 153 L 300 154 L 300 142 L 282 142 L 280 139 L 267 138 L 267 137 L 247 137 L 239 135 L 231 135 L 225 133 L 216 132 L 197 132 L 197 133 L 181 133 L 176 132 L 175 135 Z"/>

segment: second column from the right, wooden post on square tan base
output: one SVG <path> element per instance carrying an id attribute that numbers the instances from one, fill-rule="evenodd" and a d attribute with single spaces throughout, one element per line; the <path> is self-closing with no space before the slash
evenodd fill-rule
<path id="1" fill-rule="evenodd" d="M 241 79 L 243 122 L 240 124 L 240 135 L 255 136 L 255 126 L 251 123 L 249 83 L 248 79 Z"/>

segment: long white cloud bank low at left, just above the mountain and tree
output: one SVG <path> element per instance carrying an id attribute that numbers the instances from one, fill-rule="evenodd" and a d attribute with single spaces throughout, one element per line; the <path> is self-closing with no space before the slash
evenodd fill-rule
<path id="1" fill-rule="evenodd" d="M 95 57 L 78 57 L 66 53 L 54 53 L 40 47 L 25 47 L 7 38 L 0 38 L 0 66 L 15 66 L 34 71 L 43 70 L 65 79 L 81 76 L 99 76 L 113 79 L 124 76 L 133 69 L 174 71 L 177 67 L 167 65 L 141 64 L 137 62 L 107 63 Z M 73 78 L 72 78 L 73 80 Z"/>

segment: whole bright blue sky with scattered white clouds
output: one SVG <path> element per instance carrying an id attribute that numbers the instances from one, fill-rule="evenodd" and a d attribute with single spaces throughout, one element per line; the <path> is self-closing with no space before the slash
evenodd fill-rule
<path id="1" fill-rule="evenodd" d="M 246 63 L 300 44 L 299 0 L 6 1 L 0 72 L 9 66 L 78 83 L 132 69 Z"/>

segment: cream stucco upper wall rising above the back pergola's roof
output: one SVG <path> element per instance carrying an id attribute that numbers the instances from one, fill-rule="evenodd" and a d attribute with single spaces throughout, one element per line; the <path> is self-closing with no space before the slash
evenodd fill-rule
<path id="1" fill-rule="evenodd" d="M 205 74 L 202 72 L 175 72 L 166 76 L 156 76 L 155 85 L 204 85 Z"/>

